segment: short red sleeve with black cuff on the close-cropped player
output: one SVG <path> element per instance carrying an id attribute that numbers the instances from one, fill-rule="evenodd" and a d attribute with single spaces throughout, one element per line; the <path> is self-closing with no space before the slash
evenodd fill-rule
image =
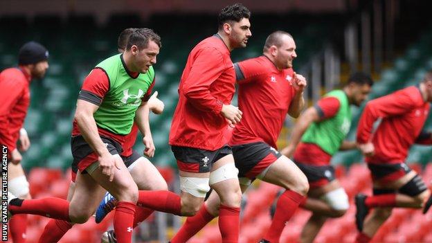
<path id="1" fill-rule="evenodd" d="M 258 76 L 262 74 L 262 66 L 255 60 L 244 60 L 234 64 L 235 80 L 237 83 L 244 84 L 258 80 Z"/>

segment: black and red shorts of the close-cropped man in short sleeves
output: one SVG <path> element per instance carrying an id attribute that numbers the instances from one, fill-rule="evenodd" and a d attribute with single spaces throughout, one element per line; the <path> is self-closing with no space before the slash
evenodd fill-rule
<path id="1" fill-rule="evenodd" d="M 233 146 L 235 167 L 239 169 L 239 177 L 255 179 L 282 154 L 264 142 L 246 143 Z"/>

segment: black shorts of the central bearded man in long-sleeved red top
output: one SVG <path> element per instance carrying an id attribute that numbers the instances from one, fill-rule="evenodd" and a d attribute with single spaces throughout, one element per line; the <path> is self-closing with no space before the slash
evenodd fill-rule
<path id="1" fill-rule="evenodd" d="M 233 150 L 228 145 L 224 145 L 224 147 L 215 151 L 181 146 L 171 146 L 171 150 L 175 159 L 177 159 L 179 170 L 195 173 L 210 172 L 213 163 L 228 154 L 233 154 Z"/>

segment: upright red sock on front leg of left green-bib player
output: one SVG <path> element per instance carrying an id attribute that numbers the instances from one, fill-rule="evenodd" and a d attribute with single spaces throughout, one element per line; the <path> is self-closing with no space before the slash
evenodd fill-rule
<path id="1" fill-rule="evenodd" d="M 114 214 L 114 232 L 118 243 L 132 241 L 132 225 L 134 224 L 135 204 L 129 201 L 119 201 Z"/>

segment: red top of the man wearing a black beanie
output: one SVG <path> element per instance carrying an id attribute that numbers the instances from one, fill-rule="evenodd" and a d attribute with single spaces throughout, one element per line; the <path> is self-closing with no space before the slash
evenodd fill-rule
<path id="1" fill-rule="evenodd" d="M 9 154 L 17 148 L 19 129 L 30 105 L 30 81 L 30 74 L 21 68 L 0 73 L 0 144 L 8 146 Z"/>

